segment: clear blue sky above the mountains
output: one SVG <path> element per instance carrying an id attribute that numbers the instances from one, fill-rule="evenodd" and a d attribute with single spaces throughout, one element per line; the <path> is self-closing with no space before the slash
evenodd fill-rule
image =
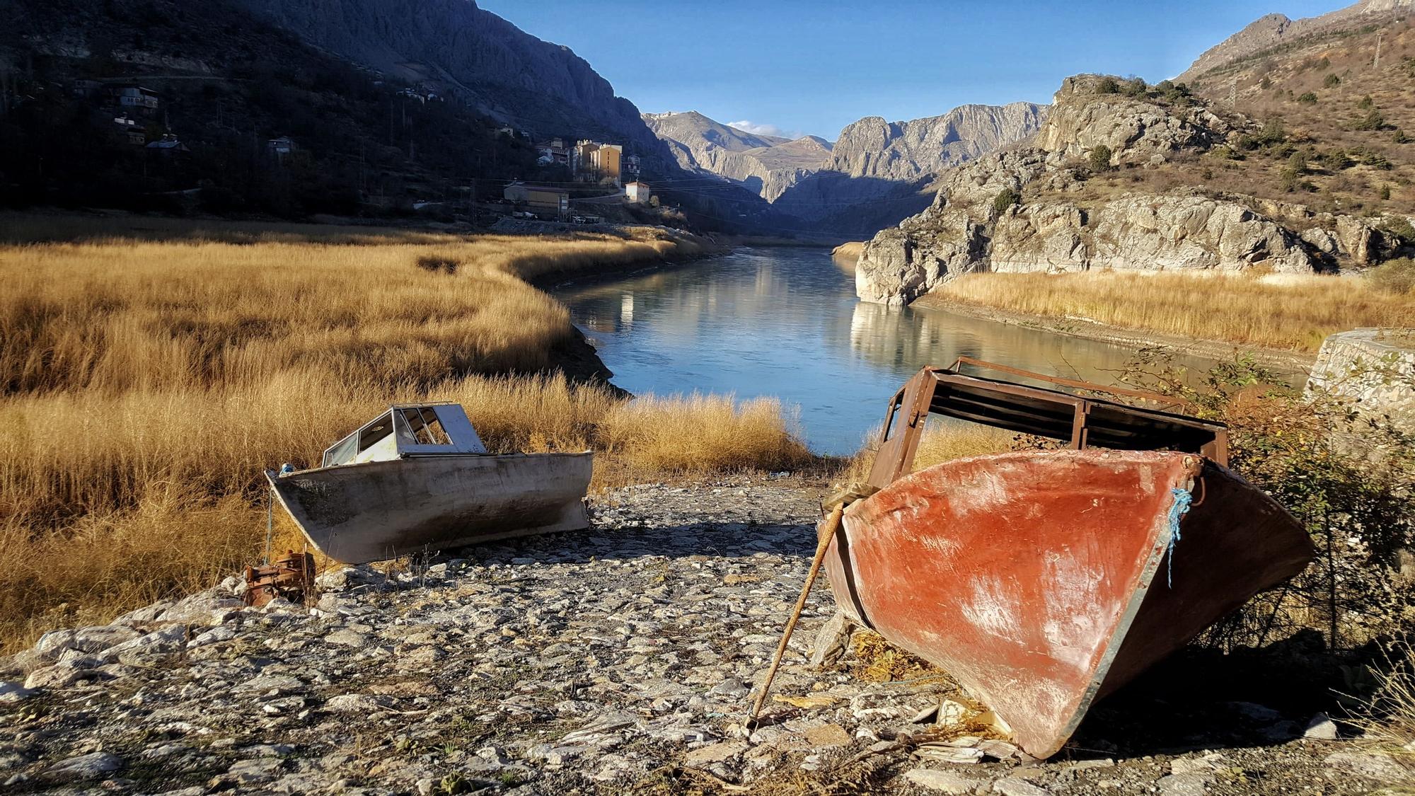
<path id="1" fill-rule="evenodd" d="M 1170 78 L 1269 13 L 1341 0 L 478 0 L 569 45 L 640 110 L 835 140 L 862 116 L 1050 102 L 1077 72 Z"/>

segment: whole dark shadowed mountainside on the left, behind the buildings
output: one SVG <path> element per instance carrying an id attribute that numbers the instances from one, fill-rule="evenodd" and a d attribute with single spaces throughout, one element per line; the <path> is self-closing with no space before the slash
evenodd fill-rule
<path id="1" fill-rule="evenodd" d="M 498 133 L 509 122 L 625 144 L 662 178 L 655 193 L 706 228 L 799 225 L 736 186 L 676 191 L 692 174 L 631 102 L 567 48 L 468 0 L 10 0 L 4 18 L 0 201 L 134 207 L 183 193 L 214 212 L 451 212 L 467 176 L 478 198 L 499 197 L 502 180 L 567 178 Z M 96 89 L 71 91 L 92 79 L 156 89 L 160 112 L 139 135 L 174 133 L 190 157 L 150 167 Z M 300 154 L 252 146 L 276 136 Z"/>

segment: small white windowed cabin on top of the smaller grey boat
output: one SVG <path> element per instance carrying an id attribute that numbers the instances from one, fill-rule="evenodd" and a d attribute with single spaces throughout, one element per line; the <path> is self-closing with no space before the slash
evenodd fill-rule
<path id="1" fill-rule="evenodd" d="M 392 406 L 324 452 L 324 467 L 406 456 L 485 453 L 457 404 Z"/>

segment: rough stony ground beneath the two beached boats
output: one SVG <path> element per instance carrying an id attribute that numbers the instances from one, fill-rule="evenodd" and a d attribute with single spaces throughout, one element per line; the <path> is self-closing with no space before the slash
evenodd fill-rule
<path id="1" fill-rule="evenodd" d="M 1180 656 L 1032 761 L 942 677 L 808 661 L 818 588 L 766 727 L 744 714 L 814 550 L 824 484 L 652 484 L 589 533 L 241 584 L 59 630 L 0 661 L 8 793 L 1367 793 L 1409 782 L 1336 738 L 1300 639 Z M 862 653 L 863 654 L 863 653 Z M 927 673 L 925 673 L 927 674 Z M 935 708 L 944 715 L 928 714 Z M 971 721 L 971 720 L 968 720 Z M 1309 725 L 1310 729 L 1309 729 Z"/>

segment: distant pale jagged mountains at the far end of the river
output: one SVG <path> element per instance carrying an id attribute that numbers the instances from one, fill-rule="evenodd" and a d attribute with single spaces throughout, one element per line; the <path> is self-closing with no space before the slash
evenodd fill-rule
<path id="1" fill-rule="evenodd" d="M 908 122 L 865 118 L 831 144 L 771 140 L 696 112 L 645 116 L 685 169 L 747 187 L 822 231 L 866 235 L 927 207 L 940 173 L 1030 136 L 1043 119 L 1046 108 L 1029 102 L 964 105 Z"/>

